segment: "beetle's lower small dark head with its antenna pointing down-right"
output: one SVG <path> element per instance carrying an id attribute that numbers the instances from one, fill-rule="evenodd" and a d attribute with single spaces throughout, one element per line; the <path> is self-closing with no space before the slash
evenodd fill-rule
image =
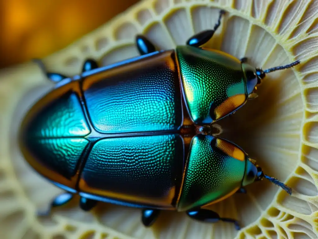
<path id="1" fill-rule="evenodd" d="M 248 158 L 248 160 L 246 160 L 246 169 L 245 169 L 245 175 L 244 175 L 244 178 L 242 181 L 242 186 L 251 184 L 251 183 L 256 182 L 256 181 L 261 181 L 261 180 L 263 180 L 263 178 L 268 179 L 273 184 L 280 186 L 287 193 L 292 194 L 292 189 L 290 187 L 288 187 L 284 183 L 280 182 L 277 178 L 270 177 L 270 176 L 264 174 L 261 167 L 259 167 L 256 164 L 256 160 L 254 160 L 252 158 Z"/>

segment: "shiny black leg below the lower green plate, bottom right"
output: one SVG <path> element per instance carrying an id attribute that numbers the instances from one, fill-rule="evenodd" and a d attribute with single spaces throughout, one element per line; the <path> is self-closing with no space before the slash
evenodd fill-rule
<path id="1" fill-rule="evenodd" d="M 219 214 L 211 210 L 193 209 L 193 210 L 187 211 L 187 214 L 190 218 L 195 219 L 197 221 L 202 221 L 202 222 L 211 222 L 211 223 L 218 222 L 218 221 L 232 222 L 235 226 L 235 229 L 237 230 L 241 229 L 239 222 L 236 221 L 235 219 L 222 218 L 219 216 Z"/>

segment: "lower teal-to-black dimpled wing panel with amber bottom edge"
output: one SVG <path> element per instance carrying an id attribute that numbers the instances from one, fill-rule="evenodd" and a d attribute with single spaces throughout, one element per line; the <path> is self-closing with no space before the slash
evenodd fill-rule
<path id="1" fill-rule="evenodd" d="M 100 191 L 104 196 L 122 193 L 135 202 L 148 198 L 169 207 L 182 172 L 179 135 L 103 139 L 92 148 L 81 176 L 88 188 L 81 183 L 79 187 L 84 192 L 105 190 Z"/>

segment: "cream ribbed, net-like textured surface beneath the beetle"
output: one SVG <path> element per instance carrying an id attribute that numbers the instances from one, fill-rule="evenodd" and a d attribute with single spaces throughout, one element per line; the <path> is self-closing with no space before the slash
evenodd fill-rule
<path id="1" fill-rule="evenodd" d="M 60 192 L 34 173 L 21 157 L 19 120 L 52 85 L 34 63 L 0 73 L 0 238 L 311 238 L 318 237 L 318 1 L 144 0 L 73 45 L 44 59 L 50 71 L 78 74 L 85 58 L 102 65 L 138 55 L 136 33 L 170 49 L 194 33 L 212 28 L 219 8 L 228 11 L 207 47 L 263 69 L 301 60 L 275 72 L 259 87 L 259 97 L 222 120 L 225 138 L 257 158 L 265 173 L 293 187 L 289 196 L 265 180 L 211 209 L 242 222 L 192 221 L 183 213 L 163 212 L 152 228 L 140 210 L 100 203 L 79 210 L 78 199 L 40 219 L 36 210 Z"/>

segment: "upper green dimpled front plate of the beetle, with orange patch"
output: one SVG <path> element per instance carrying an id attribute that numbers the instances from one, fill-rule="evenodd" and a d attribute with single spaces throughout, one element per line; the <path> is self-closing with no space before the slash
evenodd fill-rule
<path id="1" fill-rule="evenodd" d="M 188 108 L 195 123 L 211 123 L 231 113 L 231 104 L 245 103 L 246 87 L 241 63 L 217 52 L 194 47 L 177 47 L 182 83 Z M 238 101 L 238 102 L 237 102 Z M 225 104 L 226 106 L 223 106 Z"/>

